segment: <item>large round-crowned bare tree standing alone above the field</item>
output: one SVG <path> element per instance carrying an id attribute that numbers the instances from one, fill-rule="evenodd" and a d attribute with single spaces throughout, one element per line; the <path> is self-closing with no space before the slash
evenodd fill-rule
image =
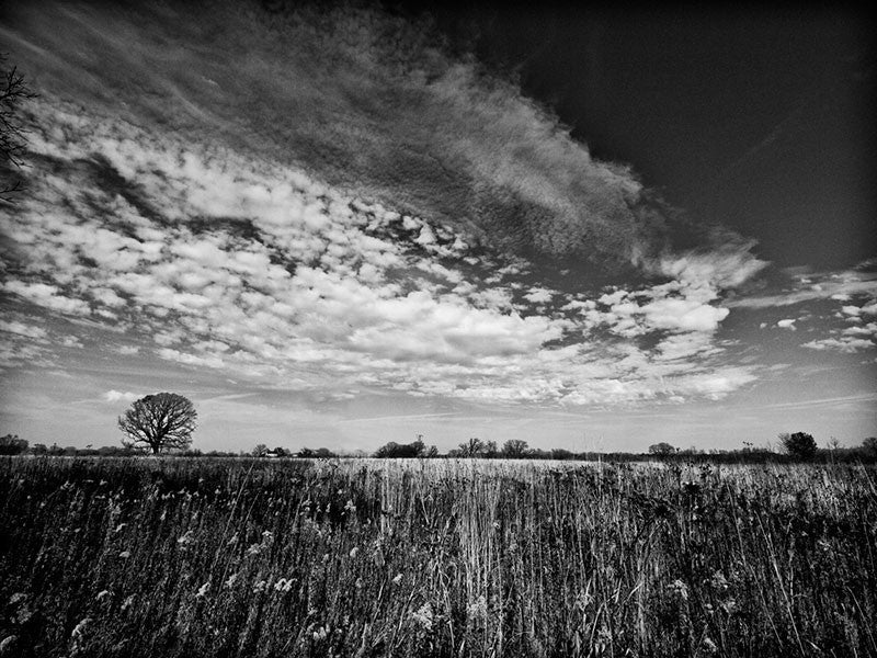
<path id="1" fill-rule="evenodd" d="M 147 395 L 118 417 L 126 447 L 151 451 L 185 450 L 192 443 L 197 411 L 192 400 L 175 393 Z"/>

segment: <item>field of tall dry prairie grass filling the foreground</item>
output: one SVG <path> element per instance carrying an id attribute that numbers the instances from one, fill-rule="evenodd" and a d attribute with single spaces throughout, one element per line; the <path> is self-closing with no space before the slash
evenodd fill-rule
<path id="1" fill-rule="evenodd" d="M 0 461 L 0 655 L 875 656 L 862 466 Z"/>

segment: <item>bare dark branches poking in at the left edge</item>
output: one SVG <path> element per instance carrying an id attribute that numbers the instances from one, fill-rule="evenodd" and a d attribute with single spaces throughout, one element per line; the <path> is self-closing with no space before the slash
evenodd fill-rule
<path id="1" fill-rule="evenodd" d="M 5 57 L 0 55 L 0 201 L 11 203 L 21 190 L 21 181 L 12 180 L 12 167 L 24 163 L 24 128 L 21 124 L 21 103 L 35 98 L 24 83 L 24 76 L 13 66 L 7 69 Z M 16 177 L 15 177 L 16 178 Z"/>

